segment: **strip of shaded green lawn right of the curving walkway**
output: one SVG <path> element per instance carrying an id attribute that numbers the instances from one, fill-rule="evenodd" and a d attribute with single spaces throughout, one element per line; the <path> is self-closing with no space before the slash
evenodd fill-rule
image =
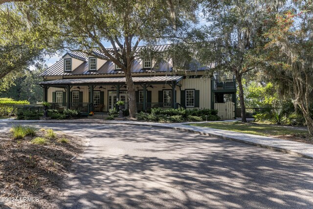
<path id="1" fill-rule="evenodd" d="M 201 126 L 235 131 L 246 134 L 255 134 L 261 136 L 295 136 L 305 137 L 308 135 L 306 130 L 298 130 L 294 127 L 284 127 L 265 123 L 242 123 L 242 122 L 211 122 L 211 123 L 192 123 L 192 126 Z"/>

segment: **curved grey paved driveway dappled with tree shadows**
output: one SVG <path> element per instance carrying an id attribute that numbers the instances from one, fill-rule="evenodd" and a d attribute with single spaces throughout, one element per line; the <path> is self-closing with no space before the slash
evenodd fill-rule
<path id="1" fill-rule="evenodd" d="M 310 159 L 169 129 L 37 125 L 90 139 L 60 208 L 313 208 Z"/>

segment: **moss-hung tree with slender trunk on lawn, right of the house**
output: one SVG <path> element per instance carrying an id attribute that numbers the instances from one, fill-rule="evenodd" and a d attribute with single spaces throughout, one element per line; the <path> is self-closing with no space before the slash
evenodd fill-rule
<path id="1" fill-rule="evenodd" d="M 279 6 L 276 0 L 224 0 L 215 6 L 204 5 L 203 14 L 208 26 L 202 33 L 211 45 L 209 53 L 202 53 L 202 60 L 216 60 L 214 70 L 233 72 L 236 77 L 242 121 L 246 122 L 243 75 L 260 65 L 259 50 L 262 34 L 268 26 L 266 20 Z"/>

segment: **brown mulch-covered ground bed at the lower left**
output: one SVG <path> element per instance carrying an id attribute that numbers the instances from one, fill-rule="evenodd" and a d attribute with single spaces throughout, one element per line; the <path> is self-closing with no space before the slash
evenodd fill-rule
<path id="1" fill-rule="evenodd" d="M 83 153 L 87 140 L 56 132 L 46 145 L 31 143 L 45 134 L 41 130 L 34 137 L 13 139 L 0 133 L 0 209 L 57 208 L 62 181 L 74 171 L 74 157 Z"/>

